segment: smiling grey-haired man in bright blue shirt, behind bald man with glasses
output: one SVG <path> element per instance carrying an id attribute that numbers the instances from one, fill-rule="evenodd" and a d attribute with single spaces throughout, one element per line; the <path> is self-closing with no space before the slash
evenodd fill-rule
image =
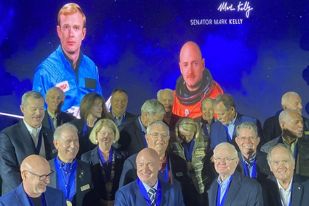
<path id="1" fill-rule="evenodd" d="M 69 205 L 96 206 L 100 196 L 96 194 L 93 168 L 75 157 L 79 150 L 77 128 L 65 123 L 54 132 L 54 144 L 58 156 L 49 161 L 55 175 L 50 178 L 50 187 L 62 190 Z"/>

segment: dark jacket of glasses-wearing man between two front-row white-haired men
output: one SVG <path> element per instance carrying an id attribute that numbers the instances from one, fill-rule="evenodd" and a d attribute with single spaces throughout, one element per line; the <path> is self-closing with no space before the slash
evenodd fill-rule
<path id="1" fill-rule="evenodd" d="M 239 157 L 239 162 L 238 162 L 236 170 L 239 173 L 245 175 L 241 152 L 238 152 L 238 157 Z M 264 179 L 266 179 L 269 175 L 273 175 L 273 173 L 270 171 L 266 158 L 267 158 L 267 153 L 261 152 L 258 150 L 256 151 L 256 156 L 255 156 L 256 172 L 257 172 L 256 181 L 258 181 L 259 183 L 263 181 Z"/>

